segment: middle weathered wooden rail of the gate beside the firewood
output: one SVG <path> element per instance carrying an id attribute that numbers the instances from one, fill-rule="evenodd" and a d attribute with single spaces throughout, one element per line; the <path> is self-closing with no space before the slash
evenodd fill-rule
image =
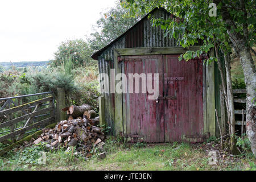
<path id="1" fill-rule="evenodd" d="M 21 117 L 18 117 L 18 118 L 15 118 L 15 119 L 11 119 L 10 121 L 6 121 L 4 123 L 1 123 L 0 124 L 0 129 L 3 128 L 3 127 L 6 127 L 6 126 L 14 125 L 15 123 L 23 121 L 24 119 L 28 119 L 30 117 L 34 117 L 38 114 L 43 114 L 43 113 L 46 113 L 47 111 L 51 111 L 51 110 L 52 110 L 52 107 L 47 107 L 47 108 L 44 108 L 42 110 L 35 111 L 34 113 L 29 113 L 29 114 L 22 115 Z"/>

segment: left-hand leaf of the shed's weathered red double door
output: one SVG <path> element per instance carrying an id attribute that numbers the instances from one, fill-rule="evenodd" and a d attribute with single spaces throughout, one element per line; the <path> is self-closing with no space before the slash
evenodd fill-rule
<path id="1" fill-rule="evenodd" d="M 163 94 L 163 56 L 125 56 L 123 57 L 123 72 L 127 76 L 129 89 L 129 73 L 159 73 L 159 93 Z M 154 74 L 152 74 L 154 88 Z M 133 82 L 135 84 L 135 82 Z M 123 93 L 125 104 L 125 135 L 127 137 L 143 137 L 144 142 L 164 142 L 163 100 L 149 100 L 148 92 L 142 93 L 140 79 L 139 93 Z M 135 85 L 133 85 L 133 88 Z M 135 92 L 135 89 L 134 89 Z"/>

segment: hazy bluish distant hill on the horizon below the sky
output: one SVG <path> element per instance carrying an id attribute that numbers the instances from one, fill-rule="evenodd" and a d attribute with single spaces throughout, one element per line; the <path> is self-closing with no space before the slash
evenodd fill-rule
<path id="1" fill-rule="evenodd" d="M 5 69 L 14 66 L 16 68 L 21 67 L 39 67 L 39 66 L 46 66 L 49 61 L 20 61 L 20 62 L 0 62 L 0 66 L 4 67 Z"/>

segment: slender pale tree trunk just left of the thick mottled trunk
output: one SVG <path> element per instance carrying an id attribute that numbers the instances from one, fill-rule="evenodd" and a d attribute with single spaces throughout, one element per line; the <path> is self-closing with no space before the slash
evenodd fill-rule
<path id="1" fill-rule="evenodd" d="M 230 55 L 229 53 L 225 53 L 225 68 L 226 68 L 226 86 L 227 86 L 227 94 L 228 94 L 228 103 L 229 103 L 229 116 L 230 116 L 230 151 L 232 154 L 237 155 L 237 147 L 236 147 L 236 131 L 235 131 L 235 117 L 234 117 L 234 96 L 233 96 L 233 88 L 232 88 L 232 80 L 231 80 L 231 72 L 230 72 Z"/>

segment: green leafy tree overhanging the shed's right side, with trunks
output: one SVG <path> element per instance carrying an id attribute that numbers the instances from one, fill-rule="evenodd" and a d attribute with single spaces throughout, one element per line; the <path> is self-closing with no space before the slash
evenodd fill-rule
<path id="1" fill-rule="evenodd" d="M 126 0 L 121 1 L 121 5 L 129 10 L 132 16 L 148 13 L 154 7 L 164 7 L 171 13 L 170 18 L 166 20 L 152 17 L 154 26 L 160 26 L 166 31 L 166 35 L 169 33 L 183 47 L 193 46 L 198 40 L 203 40 L 203 46 L 198 51 L 187 51 L 180 56 L 180 60 L 195 58 L 214 47 L 215 50 L 221 49 L 224 52 L 226 70 L 230 71 L 229 53 L 232 47 L 236 49 L 243 67 L 247 90 L 247 136 L 251 142 L 251 150 L 256 155 L 255 105 L 252 102 L 256 95 L 256 75 L 250 53 L 250 48 L 255 46 L 256 37 L 255 0 Z M 183 36 L 179 38 L 177 36 L 179 34 Z M 218 51 L 216 51 L 216 57 L 210 57 L 207 61 L 207 63 L 211 61 L 219 63 Z M 227 90 L 232 94 L 232 86 L 231 88 L 229 86 Z M 228 93 L 224 94 L 227 100 Z M 231 130 L 233 140 L 234 122 L 232 122 Z M 234 140 L 231 146 L 232 151 L 236 150 Z"/>

